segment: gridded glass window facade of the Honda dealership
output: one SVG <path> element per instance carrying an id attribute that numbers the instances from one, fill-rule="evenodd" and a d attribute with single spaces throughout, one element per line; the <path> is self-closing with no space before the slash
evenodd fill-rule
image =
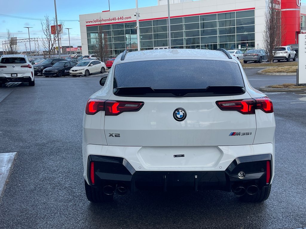
<path id="1" fill-rule="evenodd" d="M 140 50 L 168 48 L 168 20 L 140 21 Z M 98 31 L 106 37 L 110 56 L 137 50 L 136 22 L 87 27 L 88 50 Z M 245 49 L 255 47 L 254 10 L 205 14 L 170 19 L 171 48 Z"/>

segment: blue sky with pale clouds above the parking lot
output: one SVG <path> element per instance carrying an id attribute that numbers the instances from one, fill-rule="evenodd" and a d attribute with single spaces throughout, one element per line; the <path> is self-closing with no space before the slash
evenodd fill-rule
<path id="1" fill-rule="evenodd" d="M 121 10 L 135 8 L 135 0 L 109 0 L 110 10 Z M 306 0 L 302 0 L 306 3 Z M 157 5 L 157 0 L 138 0 L 138 7 Z M 76 47 L 81 45 L 79 14 L 97 13 L 108 10 L 108 0 L 57 0 L 56 1 L 58 20 L 65 21 L 66 28 L 70 29 L 70 45 Z M 7 15 L 7 16 L 4 16 Z M 2 41 L 7 39 L 6 29 L 17 38 L 28 38 L 30 28 L 31 38 L 42 37 L 40 20 L 48 15 L 51 19 L 55 16 L 53 0 L 24 1 L 24 0 L 1 0 L 0 11 L 0 51 L 2 51 Z M 12 17 L 13 16 L 13 17 Z M 15 18 L 15 17 L 25 18 Z M 75 21 L 68 21 L 75 20 Z M 27 44 L 28 45 L 28 44 Z M 64 29 L 62 34 L 62 45 L 69 45 L 68 30 Z M 25 51 L 24 44 L 20 45 Z"/>

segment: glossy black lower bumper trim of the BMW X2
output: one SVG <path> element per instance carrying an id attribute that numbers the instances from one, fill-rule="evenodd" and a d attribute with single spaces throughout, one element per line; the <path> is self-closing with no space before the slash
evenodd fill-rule
<path id="1" fill-rule="evenodd" d="M 92 162 L 94 184 L 91 182 Z M 272 165 L 271 154 L 238 157 L 225 171 L 136 171 L 124 158 L 89 155 L 87 180 L 95 187 L 124 184 L 132 192 L 146 189 L 167 191 L 177 188 L 231 191 L 234 186 L 270 185 L 271 179 L 267 183 L 267 162 Z M 241 171 L 245 173 L 243 179 L 238 178 Z M 271 177 L 271 171 L 269 174 Z"/>

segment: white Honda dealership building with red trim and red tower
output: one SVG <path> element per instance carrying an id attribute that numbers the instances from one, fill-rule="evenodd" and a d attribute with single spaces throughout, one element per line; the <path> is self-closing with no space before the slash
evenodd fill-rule
<path id="1" fill-rule="evenodd" d="M 172 48 L 262 48 L 266 0 L 170 0 Z M 306 33 L 306 5 L 300 0 L 274 0 L 281 12 L 282 45 L 296 44 Z M 83 54 L 93 54 L 103 34 L 110 56 L 137 50 L 136 9 L 80 15 Z M 140 50 L 169 48 L 167 0 L 139 8 Z"/>

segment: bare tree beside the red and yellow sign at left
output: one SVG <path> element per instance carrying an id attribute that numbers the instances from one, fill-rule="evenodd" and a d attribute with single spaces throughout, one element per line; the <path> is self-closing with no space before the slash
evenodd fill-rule
<path id="1" fill-rule="evenodd" d="M 41 37 L 41 42 L 43 45 L 43 48 L 48 52 L 48 57 L 52 57 L 54 55 L 53 47 L 55 43 L 57 42 L 58 35 L 57 33 L 52 34 L 51 31 L 51 25 L 55 25 L 55 18 L 49 19 L 49 16 L 45 16 L 44 21 L 40 21 L 41 27 L 43 29 L 43 34 L 45 37 Z M 61 29 L 64 27 L 64 23 L 60 22 L 59 24 L 62 24 Z"/>

